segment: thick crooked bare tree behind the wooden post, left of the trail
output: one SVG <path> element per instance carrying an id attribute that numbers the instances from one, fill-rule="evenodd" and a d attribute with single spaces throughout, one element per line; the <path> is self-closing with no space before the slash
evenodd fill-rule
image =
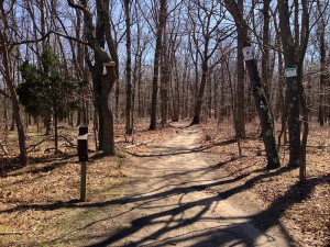
<path id="1" fill-rule="evenodd" d="M 94 24 L 92 12 L 87 0 L 75 3 L 67 0 L 69 7 L 84 13 L 86 38 L 95 54 L 95 64 L 90 66 L 94 80 L 96 105 L 99 111 L 100 148 L 105 154 L 114 155 L 113 115 L 110 102 L 110 93 L 118 78 L 118 55 L 111 34 L 109 0 L 96 0 L 97 23 Z M 107 43 L 109 53 L 106 50 Z M 102 75 L 106 67 L 106 75 Z"/>

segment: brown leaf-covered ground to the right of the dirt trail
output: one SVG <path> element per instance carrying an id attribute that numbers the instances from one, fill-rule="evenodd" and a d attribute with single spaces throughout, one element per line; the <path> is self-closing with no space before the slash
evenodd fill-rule
<path id="1" fill-rule="evenodd" d="M 330 126 L 310 124 L 307 148 L 307 181 L 299 184 L 298 169 L 288 169 L 287 145 L 280 149 L 282 168 L 267 173 L 263 142 L 257 123 L 246 125 L 248 138 L 241 141 L 242 157 L 230 122 L 204 127 L 201 146 L 217 155 L 218 162 L 231 176 L 240 177 L 268 206 L 276 205 L 301 246 L 328 246 L 330 243 Z M 279 130 L 280 126 L 277 126 Z M 229 131 L 231 130 L 231 131 Z"/>

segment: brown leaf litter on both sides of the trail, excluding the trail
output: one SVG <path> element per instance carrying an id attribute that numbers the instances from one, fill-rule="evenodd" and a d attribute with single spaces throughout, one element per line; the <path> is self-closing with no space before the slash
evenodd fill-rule
<path id="1" fill-rule="evenodd" d="M 187 125 L 184 123 L 179 127 Z M 231 122 L 223 122 L 219 126 L 211 122 L 204 124 L 200 149 L 217 157 L 219 168 L 224 168 L 232 177 L 239 177 L 243 189 L 253 191 L 267 206 L 276 207 L 278 216 L 288 223 L 301 246 L 327 246 L 330 239 L 330 127 L 311 125 L 307 183 L 299 184 L 298 170 L 285 168 L 287 146 L 280 150 L 282 168 L 265 171 L 265 153 L 257 126 L 257 123 L 246 126 L 248 138 L 241 142 L 243 157 L 238 155 Z M 130 153 L 147 153 L 150 146 L 175 135 L 177 127 L 148 132 L 147 122 L 141 121 L 133 136 L 128 136 L 123 126 L 118 125 L 116 157 L 103 157 L 96 151 L 90 135 L 87 202 L 77 201 L 80 165 L 76 156 L 76 128 L 61 130 L 65 138 L 61 138 L 59 155 L 53 154 L 52 138 L 37 134 L 35 128 L 29 128 L 30 165 L 26 167 L 19 166 L 15 158 L 16 136 L 10 132 L 6 137 L 10 155 L 0 153 L 0 246 L 50 243 L 78 231 L 80 226 L 77 224 L 84 225 L 84 217 L 95 216 L 87 207 L 102 205 L 122 195 L 121 186 L 130 176 L 123 168 L 129 167 L 133 159 L 128 158 Z M 1 139 L 4 139 L 3 136 Z M 35 144 L 38 145 L 33 146 Z"/>

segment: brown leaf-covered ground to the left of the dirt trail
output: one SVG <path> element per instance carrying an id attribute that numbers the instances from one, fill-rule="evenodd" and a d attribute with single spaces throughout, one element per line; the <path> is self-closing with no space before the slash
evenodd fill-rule
<path id="1" fill-rule="evenodd" d="M 9 155 L 0 153 L 0 246 L 52 246 L 47 243 L 74 234 L 87 224 L 86 218 L 95 216 L 89 207 L 122 194 L 121 186 L 127 182 L 123 168 L 130 166 L 127 150 L 143 153 L 154 142 L 175 133 L 174 127 L 148 132 L 145 123 L 136 125 L 133 136 L 124 135 L 122 130 L 123 125 L 116 126 L 114 157 L 96 150 L 89 130 L 87 202 L 78 201 L 77 128 L 61 127 L 59 154 L 55 155 L 54 138 L 29 127 L 25 167 L 19 162 L 16 133 L 1 136 Z"/>

